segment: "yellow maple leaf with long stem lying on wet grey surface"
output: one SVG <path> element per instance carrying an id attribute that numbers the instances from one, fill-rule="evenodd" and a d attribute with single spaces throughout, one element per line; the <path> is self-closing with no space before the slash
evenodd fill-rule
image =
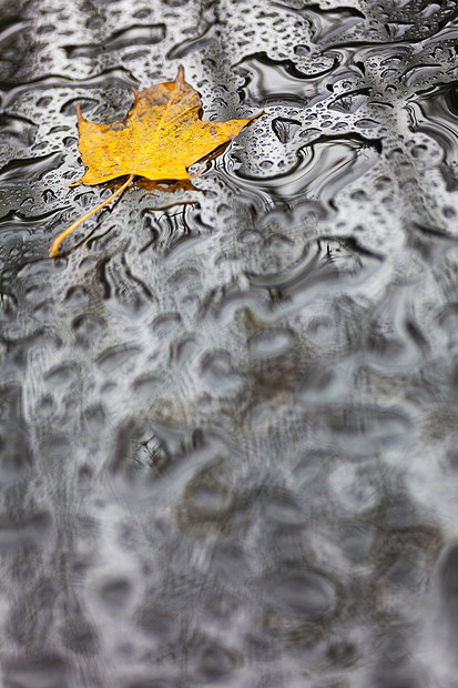
<path id="1" fill-rule="evenodd" d="M 119 196 L 134 176 L 151 181 L 189 180 L 187 169 L 220 145 L 234 139 L 256 117 L 227 122 L 208 122 L 199 118 L 201 97 L 184 80 L 179 67 L 174 81 L 150 89 L 133 89 L 135 102 L 122 122 L 94 124 L 77 108 L 79 141 L 86 171 L 72 184 L 101 184 L 129 174 L 126 181 L 103 203 L 73 222 L 57 236 L 50 256 L 59 253 L 62 241 L 82 222 Z"/>

